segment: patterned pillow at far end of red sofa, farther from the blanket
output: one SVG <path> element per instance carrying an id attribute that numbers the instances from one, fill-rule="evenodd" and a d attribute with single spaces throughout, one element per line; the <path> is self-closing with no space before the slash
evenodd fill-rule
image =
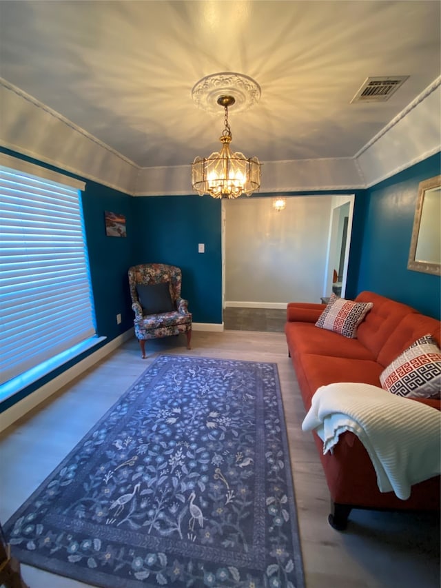
<path id="1" fill-rule="evenodd" d="M 316 327 L 355 339 L 358 325 L 372 307 L 373 303 L 371 302 L 345 300 L 345 298 L 338 298 L 333 292 L 327 307 L 316 322 Z"/>

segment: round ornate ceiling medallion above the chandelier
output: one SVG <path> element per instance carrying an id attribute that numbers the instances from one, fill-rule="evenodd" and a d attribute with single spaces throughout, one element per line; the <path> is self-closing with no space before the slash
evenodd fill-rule
<path id="1" fill-rule="evenodd" d="M 219 112 L 218 99 L 221 96 L 234 96 L 231 110 L 248 110 L 260 100 L 260 85 L 254 79 L 235 72 L 221 72 L 205 76 L 196 82 L 192 98 L 196 105 L 207 112 Z"/>

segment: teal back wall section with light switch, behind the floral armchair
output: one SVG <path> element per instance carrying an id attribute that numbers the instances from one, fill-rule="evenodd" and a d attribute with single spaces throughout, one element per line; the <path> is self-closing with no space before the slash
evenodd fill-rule
<path id="1" fill-rule="evenodd" d="M 220 200 L 211 196 L 133 199 L 136 263 L 181 267 L 181 296 L 195 323 L 222 323 Z M 205 253 L 198 253 L 205 243 Z"/>

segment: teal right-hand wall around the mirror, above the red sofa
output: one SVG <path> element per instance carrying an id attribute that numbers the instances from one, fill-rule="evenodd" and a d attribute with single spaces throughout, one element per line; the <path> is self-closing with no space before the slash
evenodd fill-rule
<path id="1" fill-rule="evenodd" d="M 441 172 L 440 153 L 367 190 L 358 292 L 371 290 L 440 318 L 440 276 L 407 269 L 418 184 Z"/>

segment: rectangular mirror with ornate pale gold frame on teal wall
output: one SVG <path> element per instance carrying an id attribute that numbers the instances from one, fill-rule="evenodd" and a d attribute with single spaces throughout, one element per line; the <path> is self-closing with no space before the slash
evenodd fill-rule
<path id="1" fill-rule="evenodd" d="M 407 269 L 441 275 L 441 175 L 420 182 Z"/>

